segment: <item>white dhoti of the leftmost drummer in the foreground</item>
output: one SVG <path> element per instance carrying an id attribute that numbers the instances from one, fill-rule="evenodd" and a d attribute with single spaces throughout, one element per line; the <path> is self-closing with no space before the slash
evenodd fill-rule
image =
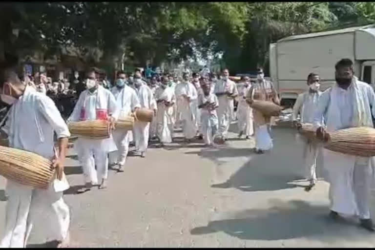
<path id="1" fill-rule="evenodd" d="M 65 239 L 69 230 L 70 214 L 69 207 L 62 199 L 62 192 L 55 192 L 52 184 L 48 189 L 42 190 L 11 180 L 7 180 L 7 183 L 9 198 L 1 248 L 24 248 L 37 219 L 49 229 L 51 240 Z"/>

